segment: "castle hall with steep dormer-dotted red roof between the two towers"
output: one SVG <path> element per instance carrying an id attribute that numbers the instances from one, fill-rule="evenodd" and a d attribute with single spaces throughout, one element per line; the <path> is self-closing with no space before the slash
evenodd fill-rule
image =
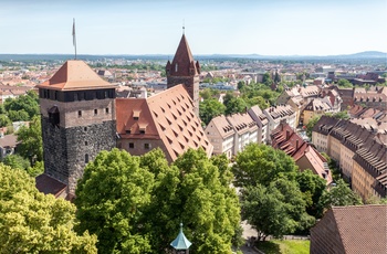
<path id="1" fill-rule="evenodd" d="M 172 162 L 189 148 L 212 154 L 212 145 L 184 85 L 148 98 L 117 98 L 116 114 L 117 146 L 130 155 L 144 155 L 158 147 Z"/>

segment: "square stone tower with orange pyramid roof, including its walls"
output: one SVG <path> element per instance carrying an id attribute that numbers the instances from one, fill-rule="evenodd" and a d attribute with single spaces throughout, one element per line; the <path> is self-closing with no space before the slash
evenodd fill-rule
<path id="1" fill-rule="evenodd" d="M 86 163 L 116 146 L 115 86 L 71 60 L 38 88 L 44 174 L 74 194 Z"/>

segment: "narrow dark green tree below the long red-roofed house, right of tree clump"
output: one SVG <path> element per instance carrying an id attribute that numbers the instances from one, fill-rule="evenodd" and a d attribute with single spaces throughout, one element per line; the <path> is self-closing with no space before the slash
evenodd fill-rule
<path id="1" fill-rule="evenodd" d="M 307 214 L 317 219 L 322 218 L 323 211 L 318 203 L 320 198 L 326 188 L 325 180 L 307 169 L 297 173 L 296 181 L 300 186 L 300 190 L 303 192 L 304 200 L 306 201 Z"/>

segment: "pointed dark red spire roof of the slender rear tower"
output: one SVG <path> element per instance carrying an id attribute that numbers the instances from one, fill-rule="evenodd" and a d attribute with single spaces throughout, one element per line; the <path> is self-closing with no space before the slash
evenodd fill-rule
<path id="1" fill-rule="evenodd" d="M 181 36 L 172 63 L 168 61 L 167 70 L 172 76 L 191 76 L 200 73 L 199 62 L 195 63 L 185 34 Z"/>

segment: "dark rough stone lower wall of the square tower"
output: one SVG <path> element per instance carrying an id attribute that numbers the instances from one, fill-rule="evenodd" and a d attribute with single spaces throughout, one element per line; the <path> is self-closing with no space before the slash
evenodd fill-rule
<path id="1" fill-rule="evenodd" d="M 92 161 L 100 151 L 116 147 L 116 121 L 63 128 L 42 116 L 42 136 L 45 173 L 66 183 L 69 192 L 75 193 L 85 160 Z"/>

